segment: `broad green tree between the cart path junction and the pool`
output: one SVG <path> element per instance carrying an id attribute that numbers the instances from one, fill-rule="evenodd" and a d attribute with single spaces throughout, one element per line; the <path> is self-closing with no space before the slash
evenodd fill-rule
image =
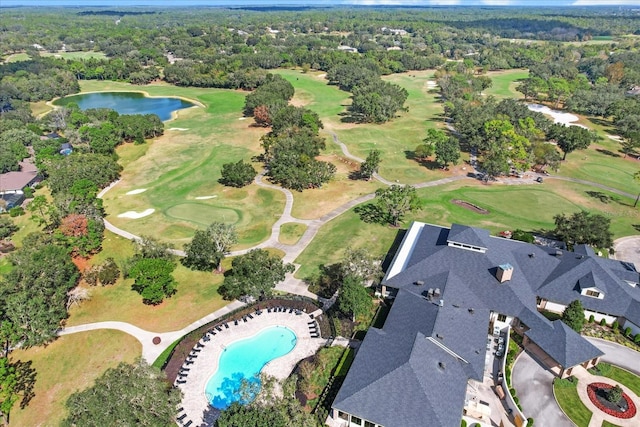
<path id="1" fill-rule="evenodd" d="M 229 299 L 243 295 L 256 299 L 269 296 L 276 284 L 284 280 L 286 273 L 293 271 L 293 265 L 283 263 L 264 249 L 252 249 L 234 258 L 220 292 Z"/>

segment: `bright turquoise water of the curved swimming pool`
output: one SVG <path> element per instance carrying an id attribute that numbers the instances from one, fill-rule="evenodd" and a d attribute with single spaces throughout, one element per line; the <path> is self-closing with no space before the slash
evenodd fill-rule
<path id="1" fill-rule="evenodd" d="M 274 326 L 229 345 L 220 356 L 218 370 L 205 387 L 211 406 L 225 409 L 233 402 L 252 401 L 260 388 L 259 374 L 264 365 L 293 350 L 296 340 L 291 329 Z M 243 380 L 249 385 L 242 390 L 248 390 L 246 393 L 241 393 Z"/>

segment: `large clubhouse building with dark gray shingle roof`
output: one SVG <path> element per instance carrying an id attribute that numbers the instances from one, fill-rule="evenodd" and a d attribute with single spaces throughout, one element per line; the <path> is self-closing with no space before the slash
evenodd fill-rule
<path id="1" fill-rule="evenodd" d="M 602 352 L 539 309 L 579 299 L 588 317 L 640 333 L 640 274 L 632 264 L 491 237 L 487 230 L 414 222 L 382 280 L 395 301 L 370 328 L 331 416 L 348 426 L 457 427 L 470 380 L 482 381 L 487 336 L 514 327 L 556 375 Z"/>

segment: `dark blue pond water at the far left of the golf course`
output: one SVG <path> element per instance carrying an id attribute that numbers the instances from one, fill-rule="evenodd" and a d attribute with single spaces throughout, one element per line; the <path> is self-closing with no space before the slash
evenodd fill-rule
<path id="1" fill-rule="evenodd" d="M 96 92 L 67 96 L 53 104 L 64 106 L 70 102 L 78 104 L 81 110 L 89 108 L 110 108 L 120 114 L 157 114 L 160 120 L 171 118 L 171 113 L 195 104 L 179 98 L 149 98 L 139 92 Z"/>

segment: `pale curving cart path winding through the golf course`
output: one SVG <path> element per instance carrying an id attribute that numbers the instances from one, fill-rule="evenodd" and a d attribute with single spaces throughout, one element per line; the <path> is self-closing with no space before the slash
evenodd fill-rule
<path id="1" fill-rule="evenodd" d="M 447 126 L 450 126 L 447 123 Z M 453 131 L 455 131 L 453 128 L 451 128 Z M 351 154 L 349 152 L 349 149 L 347 148 L 347 146 L 340 141 L 340 139 L 338 138 L 338 135 L 336 135 L 333 131 L 327 131 L 331 137 L 333 138 L 334 143 L 336 143 L 340 149 L 342 150 L 342 153 L 348 157 L 351 160 L 357 161 L 357 162 L 363 162 L 364 160 L 361 159 L 360 157 L 357 157 L 353 154 Z M 276 190 L 276 191 L 280 191 L 285 195 L 285 206 L 282 212 L 282 215 L 280 216 L 280 218 L 278 218 L 278 220 L 273 224 L 273 226 L 271 227 L 271 235 L 269 236 L 269 238 L 267 240 L 265 240 L 264 242 L 259 243 L 256 246 L 253 246 L 251 248 L 247 248 L 247 249 L 242 249 L 242 250 L 238 250 L 238 251 L 232 251 L 229 253 L 229 255 L 231 256 L 236 256 L 236 255 L 242 255 L 245 254 L 247 252 L 249 252 L 252 249 L 258 249 L 258 248 L 276 248 L 279 249 L 281 251 L 283 251 L 285 253 L 285 256 L 283 258 L 284 262 L 287 263 L 294 263 L 294 261 L 296 260 L 296 258 L 298 258 L 298 256 L 302 253 L 302 251 L 304 251 L 304 249 L 306 249 L 306 247 L 311 243 L 311 241 L 313 240 L 313 238 L 316 236 L 316 234 L 318 233 L 318 231 L 320 230 L 320 227 L 322 227 L 323 225 L 325 225 L 326 223 L 328 223 L 329 221 L 333 220 L 334 218 L 342 215 L 343 213 L 345 213 L 346 211 L 348 211 L 349 209 L 353 208 L 354 206 L 357 206 L 361 203 L 365 203 L 368 202 L 370 200 L 372 200 L 375 197 L 374 193 L 371 194 L 366 194 L 364 196 L 358 197 L 357 199 L 351 200 L 339 207 L 337 207 L 336 209 L 334 209 L 333 211 L 321 216 L 320 218 L 317 219 L 313 219 L 313 220 L 306 220 L 306 219 L 299 219 L 299 218 L 295 218 L 293 215 L 291 215 L 291 210 L 293 208 L 293 194 L 291 193 L 291 191 L 289 191 L 286 188 L 282 188 L 280 186 L 277 185 L 273 185 L 273 184 L 269 184 L 264 182 L 264 175 L 265 172 L 263 171 L 262 173 L 260 173 L 258 176 L 256 176 L 255 178 L 255 183 L 256 185 L 263 187 L 263 188 L 269 188 L 272 190 Z M 568 177 L 561 177 L 561 176 L 555 176 L 555 175 L 541 175 L 541 174 L 535 174 L 535 176 L 542 176 L 543 178 L 547 179 L 547 178 L 551 178 L 551 179 L 559 179 L 559 180 L 564 180 L 564 181 L 571 181 L 571 182 L 576 182 L 576 183 L 580 183 L 580 184 L 585 184 L 585 185 L 590 185 L 596 188 L 600 188 L 603 190 L 607 190 L 607 191 L 611 191 L 613 193 L 619 194 L 621 196 L 626 196 L 626 197 L 630 197 L 630 198 L 635 198 L 635 195 L 632 195 L 630 193 L 626 193 L 624 191 L 620 191 L 617 190 L 615 188 L 611 188 L 611 187 L 607 187 L 605 185 L 596 183 L 596 182 L 591 182 L 591 181 L 585 181 L 585 180 L 581 180 L 581 179 L 575 179 L 575 178 L 568 178 Z M 383 177 L 381 177 L 378 173 L 375 173 L 373 175 L 373 177 L 378 180 L 379 182 L 385 184 L 385 185 L 394 185 L 397 183 L 391 182 Z M 454 182 L 454 181 L 459 181 L 459 180 L 463 180 L 463 179 L 474 179 L 474 178 L 469 178 L 466 175 L 457 175 L 457 176 L 452 176 L 452 177 L 448 177 L 448 178 L 443 178 L 443 179 L 439 179 L 436 181 L 427 181 L 427 182 L 421 182 L 418 184 L 415 184 L 414 187 L 416 188 L 426 188 L 426 187 L 435 187 L 435 186 L 439 186 L 439 185 L 443 185 L 443 184 L 447 184 L 450 182 Z M 111 185 L 109 185 L 108 187 L 104 188 L 102 191 L 100 191 L 100 193 L 98 193 L 98 197 L 102 198 L 110 189 L 112 189 L 114 186 L 116 186 L 118 183 L 120 182 L 120 180 L 114 181 L 113 183 L 111 183 Z M 506 181 L 507 183 L 509 183 L 509 181 Z M 298 242 L 296 242 L 293 245 L 288 245 L 288 244 L 284 244 L 284 243 L 280 243 L 279 238 L 280 238 L 280 229 L 282 224 L 288 223 L 288 222 L 294 222 L 294 223 L 299 223 L 299 224 L 304 224 L 307 226 L 307 229 L 305 230 L 304 234 L 302 235 L 302 237 L 298 240 Z M 112 223 L 110 223 L 107 219 L 104 219 L 104 225 L 105 228 L 109 231 L 111 231 L 112 233 L 115 233 L 121 237 L 124 237 L 126 239 L 129 240 L 140 240 L 140 237 L 130 233 L 126 230 L 123 230 L 121 228 L 116 227 L 115 225 L 113 225 Z M 172 250 L 172 252 L 177 255 L 177 256 L 185 256 L 184 251 L 182 250 L 177 250 L 174 249 Z M 294 264 L 295 265 L 295 264 Z M 295 265 L 296 270 L 299 267 L 299 265 Z M 296 294 L 296 295 L 302 295 L 302 296 L 306 296 L 306 297 L 310 297 L 313 299 L 318 299 L 318 296 L 309 292 L 309 290 L 307 289 L 307 285 L 300 279 L 296 279 L 295 277 L 293 277 L 294 273 L 290 273 L 287 274 L 285 280 L 281 283 L 279 283 L 276 286 L 276 289 L 281 290 L 281 291 L 285 291 L 291 294 Z M 203 317 L 202 319 L 199 319 L 195 322 L 193 322 L 192 324 L 186 326 L 185 328 L 179 330 L 179 331 L 170 331 L 170 332 L 163 332 L 163 333 L 155 333 L 155 332 L 151 332 L 151 331 L 146 331 L 144 329 L 140 329 L 134 325 L 131 325 L 129 323 L 125 323 L 125 322 L 98 322 L 98 323 L 89 323 L 89 324 L 85 324 L 85 325 L 79 325 L 79 326 L 69 326 L 66 328 L 61 329 L 58 332 L 58 335 L 67 335 L 67 334 L 72 334 L 72 333 L 78 333 L 78 332 L 86 332 L 86 331 L 91 331 L 91 330 L 96 330 L 96 329 L 116 329 L 125 333 L 128 333 L 130 335 L 132 335 L 133 337 L 135 337 L 136 339 L 138 339 L 138 341 L 140 341 L 140 343 L 142 344 L 142 356 L 144 359 L 146 359 L 149 363 L 153 363 L 153 361 L 156 360 L 156 358 L 171 344 L 173 343 L 176 339 L 180 338 L 181 336 L 197 329 L 198 327 L 212 322 L 215 319 L 219 318 L 220 316 L 235 310 L 236 308 L 242 307 L 244 305 L 244 303 L 240 302 L 240 301 L 233 301 L 230 304 L 226 305 L 225 307 L 214 311 L 213 313 Z M 154 337 L 160 337 L 161 342 L 158 345 L 154 345 L 152 342 L 152 339 Z"/>

